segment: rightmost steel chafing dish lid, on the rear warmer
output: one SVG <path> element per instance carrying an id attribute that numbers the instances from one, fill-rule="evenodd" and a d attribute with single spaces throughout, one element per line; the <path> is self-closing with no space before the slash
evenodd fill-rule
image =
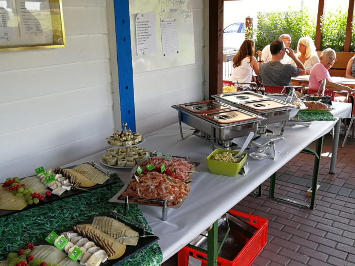
<path id="1" fill-rule="evenodd" d="M 294 108 L 292 104 L 279 101 L 273 98 L 239 102 L 238 105 L 240 105 L 241 108 L 244 107 L 247 110 L 252 110 L 259 113 L 277 112 L 277 111 L 289 110 Z"/>

